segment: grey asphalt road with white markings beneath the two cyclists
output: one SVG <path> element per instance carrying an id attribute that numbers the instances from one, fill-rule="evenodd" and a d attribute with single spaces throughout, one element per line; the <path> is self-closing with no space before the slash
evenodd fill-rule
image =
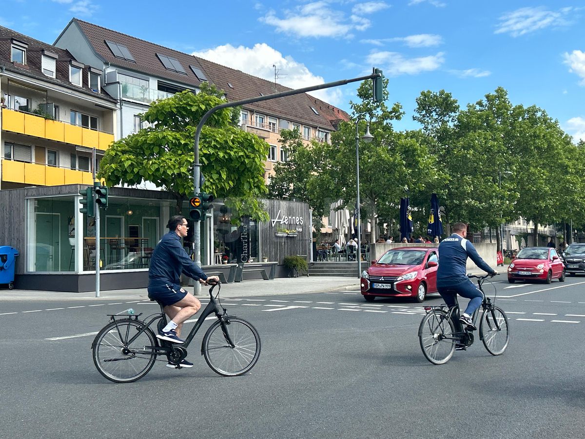
<path id="1" fill-rule="evenodd" d="M 129 384 L 99 375 L 91 341 L 105 314 L 156 305 L 2 301 L 0 437 L 584 437 L 585 277 L 498 280 L 512 331 L 502 356 L 476 339 L 434 366 L 418 344 L 422 304 L 291 292 L 225 299 L 262 338 L 247 375 L 212 372 L 200 332 L 188 356 L 194 368 L 161 361 Z"/>

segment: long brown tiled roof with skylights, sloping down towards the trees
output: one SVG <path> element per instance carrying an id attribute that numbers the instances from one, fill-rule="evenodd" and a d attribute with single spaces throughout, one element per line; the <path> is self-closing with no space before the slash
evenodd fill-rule
<path id="1" fill-rule="evenodd" d="M 187 53 L 168 49 L 159 44 L 150 43 L 136 37 L 126 35 L 115 30 L 102 28 L 92 23 L 74 18 L 71 23 L 77 23 L 81 32 L 85 34 L 95 51 L 106 62 L 116 66 L 126 67 L 137 72 L 151 74 L 160 78 L 168 78 L 178 83 L 187 84 L 192 87 L 199 87 L 201 81 L 195 76 L 189 66 L 199 68 L 211 83 L 226 92 L 229 101 L 239 101 L 246 98 L 259 96 L 260 93 L 267 95 L 275 92 L 275 84 L 256 76 L 244 73 L 234 68 L 221 66 Z M 133 55 L 136 63 L 116 58 L 109 49 L 105 40 L 123 44 Z M 156 53 L 173 57 L 181 62 L 186 75 L 167 70 Z M 233 88 L 229 87 L 232 84 Z M 307 84 L 307 86 L 312 84 Z M 291 90 L 283 85 L 276 84 L 276 91 Z M 301 122 L 307 125 L 319 126 L 325 129 L 334 129 L 339 119 L 347 120 L 349 115 L 345 111 L 333 107 L 324 101 L 316 100 L 308 94 L 298 94 L 279 98 L 276 100 L 256 102 L 246 106 L 254 111 L 263 112 L 266 115 L 277 116 L 288 119 L 291 122 Z M 314 107 L 319 115 L 311 110 Z"/>

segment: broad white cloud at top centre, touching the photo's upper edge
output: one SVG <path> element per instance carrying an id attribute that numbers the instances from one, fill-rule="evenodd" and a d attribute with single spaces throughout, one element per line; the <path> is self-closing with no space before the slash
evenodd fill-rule
<path id="1" fill-rule="evenodd" d="M 377 2 L 371 2 L 377 3 Z M 355 5 L 357 8 L 359 5 Z M 366 8 L 367 9 L 367 8 Z M 371 7 L 370 7 L 371 9 Z M 260 17 L 261 22 L 274 26 L 277 32 L 298 37 L 352 37 L 352 30 L 365 30 L 370 20 L 355 13 L 349 18 L 338 9 L 330 8 L 328 1 L 317 1 L 284 11 L 284 18 L 270 11 Z"/>

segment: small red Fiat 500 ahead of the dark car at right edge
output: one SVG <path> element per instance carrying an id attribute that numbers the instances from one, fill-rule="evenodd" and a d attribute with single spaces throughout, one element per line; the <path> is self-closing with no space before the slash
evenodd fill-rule
<path id="1" fill-rule="evenodd" d="M 508 267 L 510 283 L 517 280 L 543 280 L 550 283 L 553 279 L 565 282 L 565 265 L 553 248 L 525 247 Z"/>

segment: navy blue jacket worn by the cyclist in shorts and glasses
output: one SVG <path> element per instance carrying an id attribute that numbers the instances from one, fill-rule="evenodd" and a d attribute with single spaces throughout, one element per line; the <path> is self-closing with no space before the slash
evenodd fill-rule
<path id="1" fill-rule="evenodd" d="M 207 280 L 207 275 L 185 252 L 181 237 L 175 232 L 168 232 L 154 248 L 150 258 L 149 287 L 167 283 L 180 284 L 181 273 L 195 280 Z"/>

